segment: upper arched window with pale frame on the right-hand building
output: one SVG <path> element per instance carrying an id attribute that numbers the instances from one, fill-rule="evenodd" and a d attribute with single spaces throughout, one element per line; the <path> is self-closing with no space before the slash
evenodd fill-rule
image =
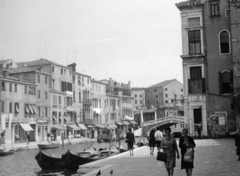
<path id="1" fill-rule="evenodd" d="M 219 35 L 220 39 L 220 53 L 227 54 L 230 53 L 230 36 L 228 31 L 222 31 Z"/>

